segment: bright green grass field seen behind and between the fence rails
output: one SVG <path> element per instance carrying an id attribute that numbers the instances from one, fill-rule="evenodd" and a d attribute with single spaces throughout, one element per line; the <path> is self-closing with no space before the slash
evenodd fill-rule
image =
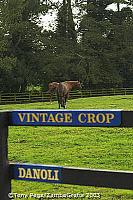
<path id="1" fill-rule="evenodd" d="M 1 110 L 56 108 L 58 108 L 57 102 L 0 106 Z M 99 108 L 133 110 L 133 96 L 92 97 L 68 102 L 68 109 Z M 133 129 L 131 128 L 11 127 L 9 129 L 9 160 L 13 162 L 133 171 L 132 157 Z M 86 195 L 99 193 L 102 200 L 133 199 L 131 190 L 23 181 L 12 181 L 12 192 L 28 195 L 30 193 L 84 194 L 84 198 L 78 199 L 99 199 L 87 198 Z"/>

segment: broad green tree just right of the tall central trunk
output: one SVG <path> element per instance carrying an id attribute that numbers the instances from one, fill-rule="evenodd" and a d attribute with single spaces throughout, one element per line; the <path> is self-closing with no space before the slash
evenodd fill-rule
<path id="1" fill-rule="evenodd" d="M 114 2 L 117 3 L 118 11 L 107 10 L 107 6 Z M 123 84 L 124 76 L 117 57 L 119 47 L 116 47 L 118 43 L 115 38 L 122 42 L 119 25 L 123 21 L 123 25 L 127 25 L 131 16 L 127 12 L 124 14 L 123 9 L 120 11 L 121 2 L 124 1 L 92 0 L 87 1 L 84 6 L 86 13 L 79 28 L 80 55 L 87 73 L 85 83 L 89 80 L 89 87 L 114 87 Z"/>

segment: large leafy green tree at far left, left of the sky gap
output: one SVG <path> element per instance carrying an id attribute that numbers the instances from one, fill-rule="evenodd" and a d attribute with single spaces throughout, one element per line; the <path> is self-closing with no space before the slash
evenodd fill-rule
<path id="1" fill-rule="evenodd" d="M 42 48 L 42 28 L 38 20 L 39 14 L 46 13 L 48 8 L 40 0 L 3 0 L 0 5 L 1 28 L 7 42 L 4 58 L 8 56 L 15 61 L 10 65 L 12 79 L 8 76 L 10 84 L 6 85 L 6 90 L 24 91 L 29 83 L 37 81 L 39 66 L 35 55 Z M 2 86 L 1 90 L 4 90 Z"/>

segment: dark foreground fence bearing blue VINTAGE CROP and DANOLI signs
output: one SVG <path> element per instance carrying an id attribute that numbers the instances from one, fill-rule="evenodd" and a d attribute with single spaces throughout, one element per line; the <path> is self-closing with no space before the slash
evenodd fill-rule
<path id="1" fill-rule="evenodd" d="M 62 184 L 77 184 L 96 187 L 109 187 L 119 189 L 133 189 L 133 172 L 132 171 L 114 171 L 114 170 L 100 170 L 100 169 L 84 169 L 63 166 L 49 166 L 49 165 L 34 165 L 34 164 L 20 164 L 10 163 L 8 161 L 8 126 L 68 126 L 66 122 L 58 124 L 58 122 L 51 121 L 50 124 L 42 124 L 42 121 L 30 122 L 22 117 L 23 113 L 52 113 L 53 116 L 58 112 L 64 114 L 71 113 L 71 123 L 69 126 L 87 126 L 90 124 L 82 123 L 78 120 L 78 116 L 82 113 L 83 116 L 88 114 L 101 116 L 111 116 L 110 123 L 103 120 L 91 121 L 91 127 L 133 127 L 133 111 L 123 110 L 31 110 L 31 111 L 5 111 L 0 113 L 0 197 L 3 200 L 9 199 L 8 194 L 11 192 L 11 180 L 26 180 L 26 181 L 41 181 L 50 183 Z M 48 113 L 47 113 L 48 112 Z M 75 113 L 78 113 L 75 117 Z M 86 114 L 87 113 L 87 114 Z M 21 114 L 21 115 L 20 115 Z M 21 116 L 21 117 L 20 117 Z M 26 115 L 25 115 L 26 116 Z M 32 116 L 32 115 L 31 115 Z M 112 117 L 113 116 L 113 117 Z M 23 119 L 23 120 L 22 120 Z M 36 119 L 36 118 L 35 118 Z M 76 123 L 75 123 L 76 122 Z M 101 123 L 102 122 L 102 123 Z"/>

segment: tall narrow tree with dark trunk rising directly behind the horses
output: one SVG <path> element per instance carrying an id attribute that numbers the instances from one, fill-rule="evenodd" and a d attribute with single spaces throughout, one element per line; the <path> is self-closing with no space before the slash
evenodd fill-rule
<path id="1" fill-rule="evenodd" d="M 70 69 L 74 66 L 77 45 L 71 0 L 63 0 L 60 5 L 56 31 L 49 32 L 49 38 L 47 49 L 45 48 L 45 53 L 48 54 L 50 51 L 50 55 L 47 56 L 47 69 L 45 69 L 47 80 L 50 82 L 71 79 Z"/>

